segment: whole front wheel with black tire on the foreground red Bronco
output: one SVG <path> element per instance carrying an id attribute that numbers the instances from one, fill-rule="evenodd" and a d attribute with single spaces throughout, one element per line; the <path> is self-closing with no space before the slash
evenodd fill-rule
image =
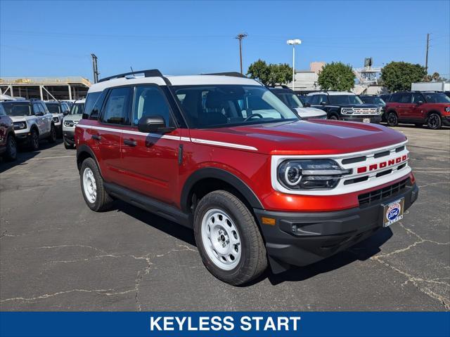
<path id="1" fill-rule="evenodd" d="M 238 286 L 266 270 L 266 248 L 255 218 L 230 192 L 210 192 L 200 200 L 194 234 L 205 267 L 221 281 Z"/>

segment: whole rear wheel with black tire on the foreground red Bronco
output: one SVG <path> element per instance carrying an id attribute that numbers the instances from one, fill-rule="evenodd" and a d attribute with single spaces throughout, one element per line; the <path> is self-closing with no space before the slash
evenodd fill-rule
<path id="1" fill-rule="evenodd" d="M 113 203 L 113 199 L 103 187 L 103 178 L 96 161 L 92 158 L 86 158 L 82 162 L 82 168 L 79 171 L 82 194 L 89 209 L 95 212 L 106 211 Z"/>

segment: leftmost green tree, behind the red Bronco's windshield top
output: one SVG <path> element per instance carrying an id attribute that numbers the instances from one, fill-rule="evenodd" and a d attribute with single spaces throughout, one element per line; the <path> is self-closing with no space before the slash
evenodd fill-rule
<path id="1" fill-rule="evenodd" d="M 257 79 L 265 86 L 274 86 L 291 81 L 293 68 L 286 63 L 268 65 L 263 60 L 257 60 L 248 67 L 247 75 L 252 79 Z"/>

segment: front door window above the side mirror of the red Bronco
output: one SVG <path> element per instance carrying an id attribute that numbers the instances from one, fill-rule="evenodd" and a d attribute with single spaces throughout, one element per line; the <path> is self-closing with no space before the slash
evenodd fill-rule
<path id="1" fill-rule="evenodd" d="M 157 86 L 136 86 L 134 91 L 133 124 L 144 116 L 161 116 L 170 125 L 170 109 L 165 95 Z"/>

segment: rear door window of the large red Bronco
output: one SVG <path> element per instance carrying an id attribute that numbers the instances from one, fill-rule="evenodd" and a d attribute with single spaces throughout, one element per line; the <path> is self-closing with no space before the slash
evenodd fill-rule
<path id="1" fill-rule="evenodd" d="M 115 88 L 110 91 L 105 109 L 103 122 L 127 125 L 129 122 L 129 98 L 131 88 Z"/>

